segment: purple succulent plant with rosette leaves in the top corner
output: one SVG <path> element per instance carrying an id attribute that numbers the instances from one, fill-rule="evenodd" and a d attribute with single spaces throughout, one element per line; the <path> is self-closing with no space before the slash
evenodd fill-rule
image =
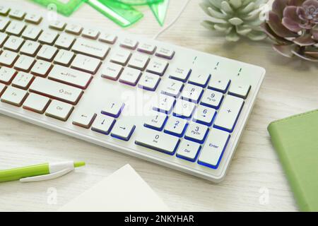
<path id="1" fill-rule="evenodd" d="M 262 28 L 283 56 L 318 62 L 318 0 L 275 0 Z"/>

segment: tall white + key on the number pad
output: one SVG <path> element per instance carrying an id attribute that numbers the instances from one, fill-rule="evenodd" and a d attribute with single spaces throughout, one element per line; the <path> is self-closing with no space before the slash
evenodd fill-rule
<path id="1" fill-rule="evenodd" d="M 223 105 L 220 107 L 218 116 L 214 122 L 214 127 L 231 133 L 240 116 L 243 105 L 244 100 L 242 98 L 227 95 Z"/>

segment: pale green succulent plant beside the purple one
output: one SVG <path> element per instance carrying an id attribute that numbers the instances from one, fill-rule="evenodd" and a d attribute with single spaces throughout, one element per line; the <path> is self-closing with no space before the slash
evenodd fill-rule
<path id="1" fill-rule="evenodd" d="M 260 28 L 262 6 L 268 0 L 204 0 L 201 8 L 209 19 L 201 24 L 210 30 L 225 34 L 225 39 L 236 42 L 240 37 L 259 41 L 266 38 Z"/>

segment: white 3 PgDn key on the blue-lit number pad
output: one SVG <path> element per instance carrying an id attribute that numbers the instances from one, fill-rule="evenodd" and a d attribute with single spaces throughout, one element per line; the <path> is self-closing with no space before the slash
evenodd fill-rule
<path id="1" fill-rule="evenodd" d="M 189 124 L 187 132 L 184 135 L 184 138 L 189 141 L 204 143 L 207 135 L 208 135 L 208 126 L 192 123 L 192 124 Z"/>

